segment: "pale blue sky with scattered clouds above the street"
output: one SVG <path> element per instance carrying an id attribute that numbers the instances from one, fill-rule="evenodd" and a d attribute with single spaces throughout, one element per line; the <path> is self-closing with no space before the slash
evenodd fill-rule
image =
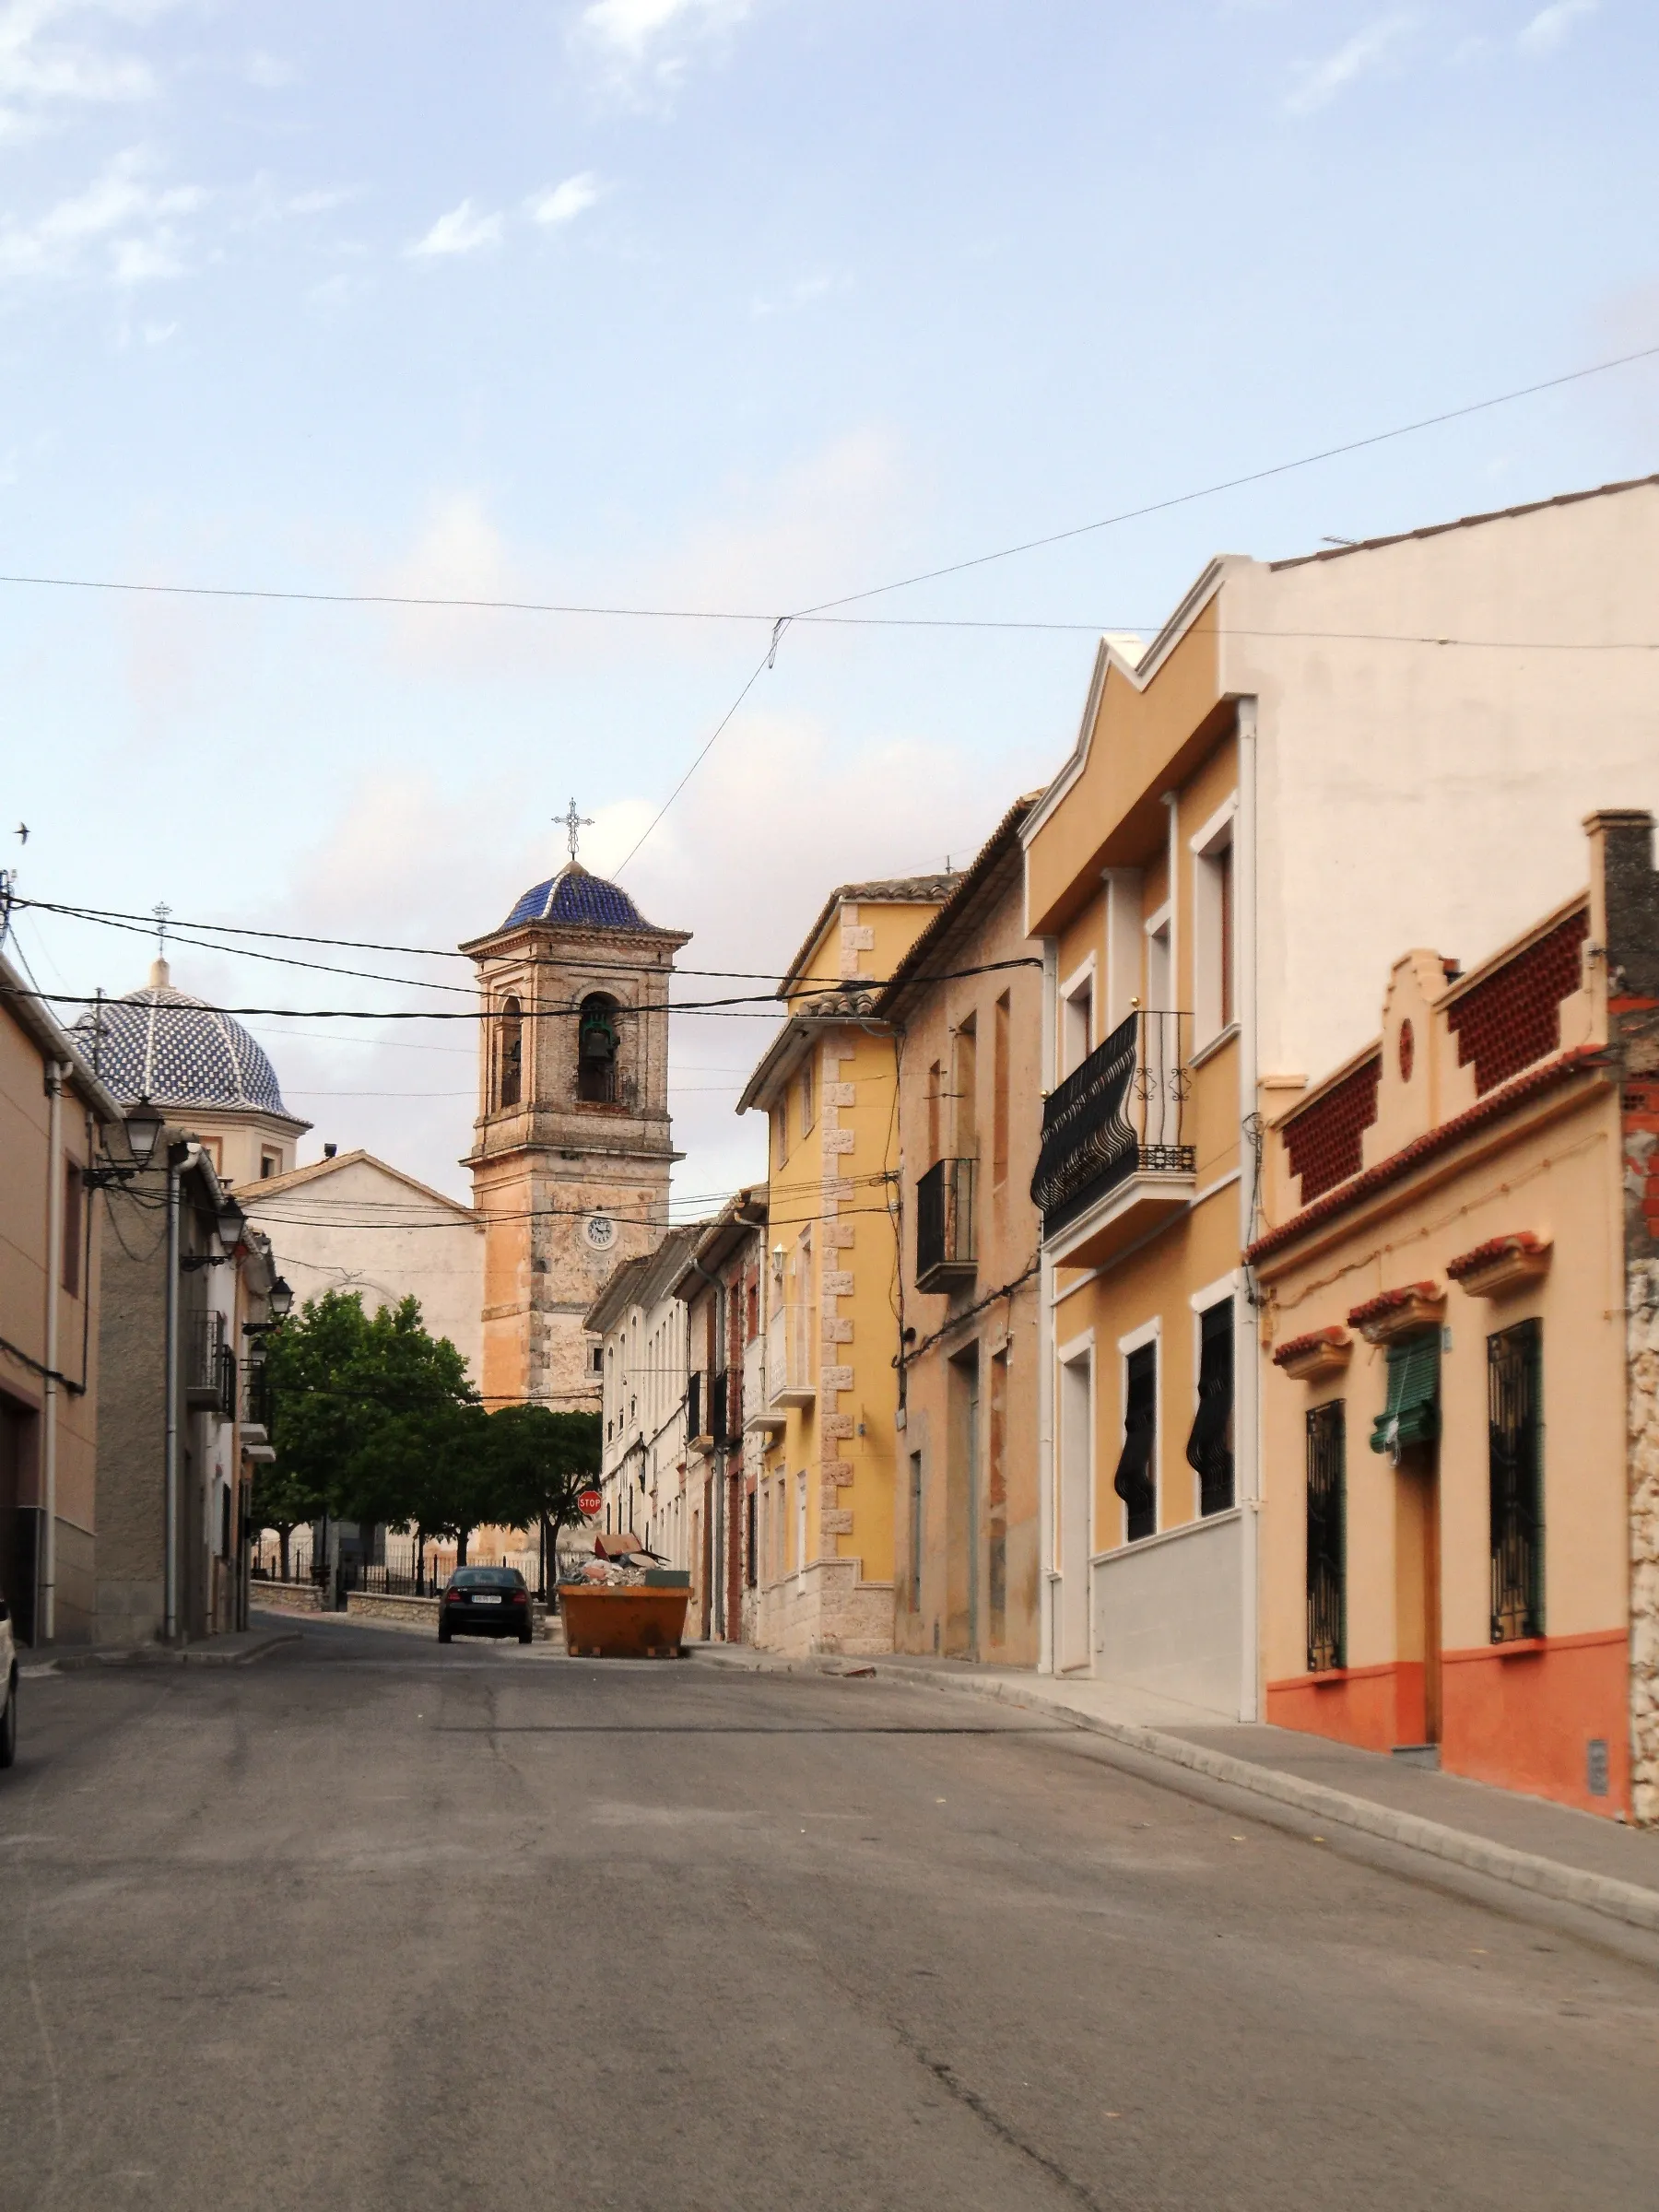
<path id="1" fill-rule="evenodd" d="M 1659 347 L 1655 31 L 1644 0 L 0 0 L 0 573 L 77 580 L 0 582 L 0 865 L 175 938 L 445 949 L 557 865 L 575 796 L 686 967 L 781 969 L 836 883 L 971 856 L 1064 761 L 1095 635 L 1150 635 L 1210 555 L 1659 467 L 1648 361 L 880 593 L 847 613 L 907 622 L 794 624 L 763 666 L 779 615 Z M 62 993 L 153 951 L 38 909 L 15 945 Z M 170 949 L 184 989 L 296 1009 L 248 1026 L 301 1159 L 465 1197 L 471 1026 L 323 1009 L 465 1009 L 422 984 L 467 964 L 265 949 L 394 978 Z M 732 1108 L 768 1035 L 675 1022 L 686 1214 L 763 1172 Z"/>

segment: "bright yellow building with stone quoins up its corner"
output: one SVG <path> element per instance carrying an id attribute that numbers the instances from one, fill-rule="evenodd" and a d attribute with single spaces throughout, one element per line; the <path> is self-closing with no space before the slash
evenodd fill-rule
<path id="1" fill-rule="evenodd" d="M 832 891 L 779 987 L 739 1113 L 768 1115 L 770 1283 L 757 1493 L 759 1644 L 891 1650 L 898 1033 L 876 998 L 956 876 Z"/>

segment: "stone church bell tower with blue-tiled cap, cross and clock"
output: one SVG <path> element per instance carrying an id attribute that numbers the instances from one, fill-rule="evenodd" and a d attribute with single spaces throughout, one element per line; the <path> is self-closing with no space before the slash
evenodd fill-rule
<path id="1" fill-rule="evenodd" d="M 681 929 L 575 858 L 533 885 L 478 964 L 478 1119 L 462 1161 L 484 1221 L 482 1391 L 595 1411 L 582 1327 L 611 1270 L 668 1225 L 668 984 Z"/>

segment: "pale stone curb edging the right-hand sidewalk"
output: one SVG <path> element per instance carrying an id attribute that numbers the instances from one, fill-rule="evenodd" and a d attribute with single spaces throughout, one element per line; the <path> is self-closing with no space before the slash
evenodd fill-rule
<path id="1" fill-rule="evenodd" d="M 1354 1827 L 1367 1836 L 1380 1836 L 1385 1843 L 1396 1843 L 1407 1851 L 1425 1851 L 1429 1858 L 1444 1858 L 1453 1867 L 1467 1867 L 1471 1874 L 1511 1882 L 1515 1889 L 1531 1889 L 1535 1896 L 1577 1905 L 1586 1911 L 1604 1913 L 1608 1920 L 1621 1920 L 1626 1927 L 1659 1933 L 1659 1889 L 1644 1889 L 1639 1882 L 1619 1882 L 1610 1874 L 1588 1874 L 1584 1867 L 1568 1867 L 1559 1858 L 1517 1851 L 1506 1843 L 1491 1843 L 1486 1836 L 1471 1836 L 1467 1829 L 1425 1820 L 1422 1814 L 1376 1805 L 1371 1798 L 1352 1796 L 1347 1790 L 1329 1790 L 1325 1783 L 1310 1783 L 1296 1774 L 1279 1774 L 1274 1767 L 1259 1767 L 1248 1759 L 1234 1759 L 1232 1752 L 1212 1752 L 1201 1743 L 1188 1743 L 1183 1736 L 1170 1736 L 1161 1728 L 1141 1728 L 1135 1721 L 1106 1721 L 1077 1705 L 1062 1705 L 1046 1697 L 1022 1697 L 1011 1683 L 973 1681 L 962 1674 L 931 1674 L 891 1663 L 883 1666 L 880 1659 L 774 1659 L 770 1652 L 757 1652 L 741 1644 L 701 1644 L 697 1646 L 697 1657 L 714 1666 L 741 1668 L 754 1674 L 874 1674 L 878 1681 L 902 1681 L 911 1688 L 991 1697 L 1000 1705 L 1018 1705 L 1022 1712 L 1048 1712 L 1071 1728 L 1095 1736 L 1110 1736 L 1115 1743 L 1148 1759 L 1164 1759 L 1210 1781 L 1228 1783 L 1232 1790 L 1250 1790 L 1256 1796 L 1276 1798 L 1281 1805 L 1294 1805 L 1296 1812 L 1312 1814 L 1332 1827 Z"/>

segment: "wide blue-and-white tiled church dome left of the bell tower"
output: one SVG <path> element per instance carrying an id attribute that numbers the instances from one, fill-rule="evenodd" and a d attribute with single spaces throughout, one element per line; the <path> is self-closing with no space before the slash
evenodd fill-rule
<path id="1" fill-rule="evenodd" d="M 241 1022 L 175 991 L 166 960 L 155 962 L 144 991 L 84 1013 L 73 1035 L 117 1099 L 243 1108 L 292 1119 L 276 1071 Z"/>

